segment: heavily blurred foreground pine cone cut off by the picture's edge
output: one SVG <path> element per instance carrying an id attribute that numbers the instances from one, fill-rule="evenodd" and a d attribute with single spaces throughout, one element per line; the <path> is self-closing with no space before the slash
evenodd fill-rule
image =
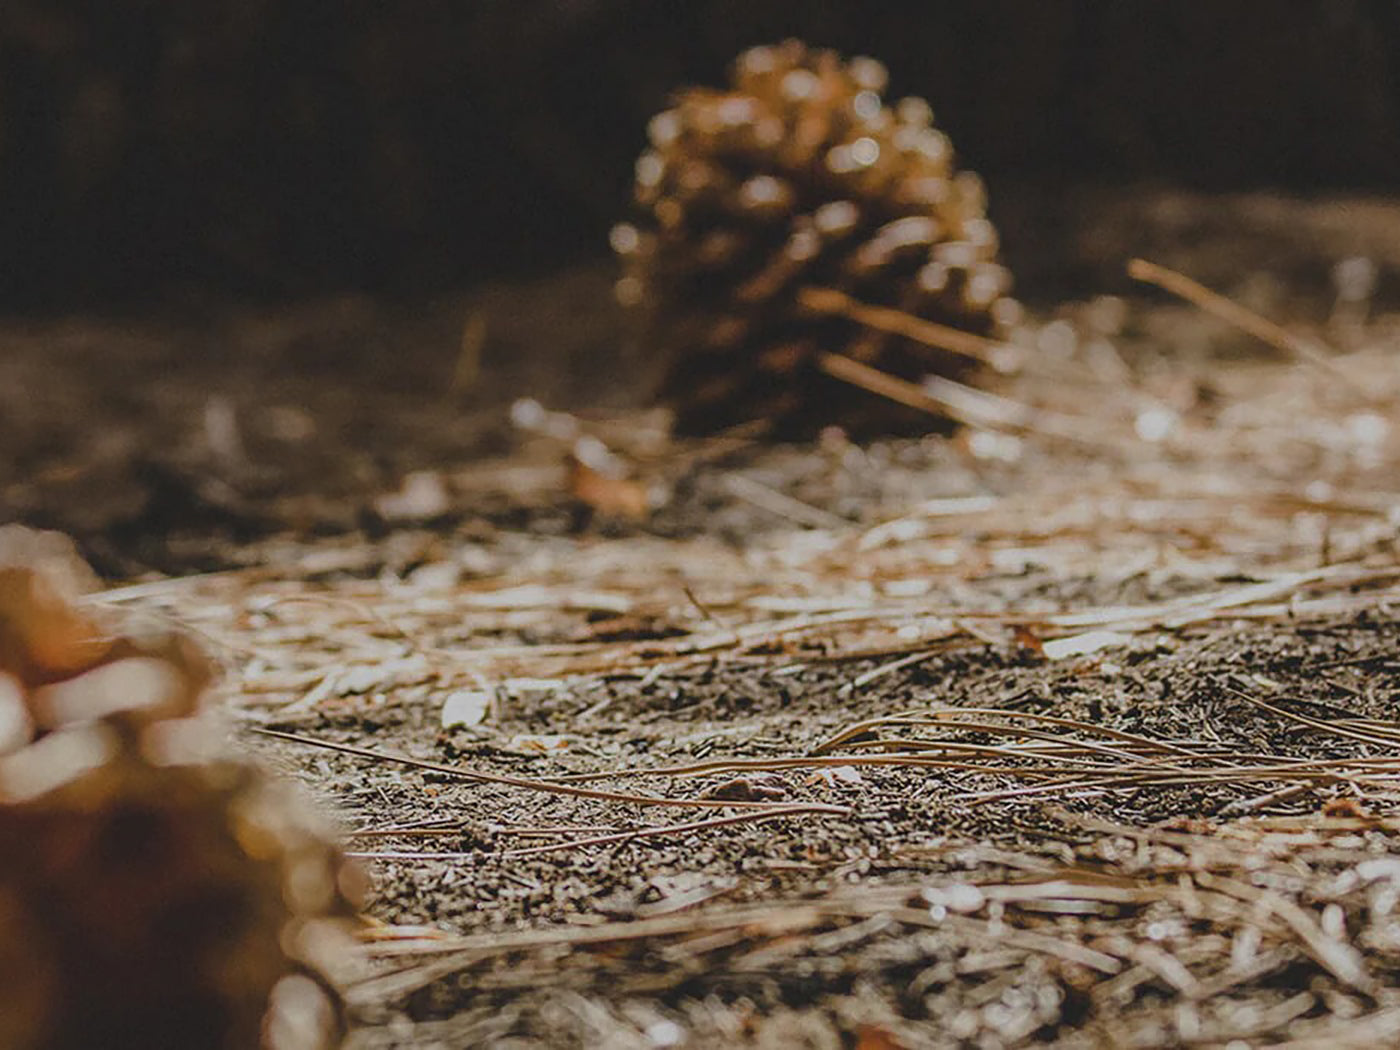
<path id="1" fill-rule="evenodd" d="M 210 762 L 210 668 L 0 529 L 0 1046 L 328 1050 L 357 875 L 284 790 Z"/>

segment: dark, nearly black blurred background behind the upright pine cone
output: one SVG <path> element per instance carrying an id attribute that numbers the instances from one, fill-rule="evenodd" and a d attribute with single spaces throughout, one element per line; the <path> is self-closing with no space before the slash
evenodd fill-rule
<path id="1" fill-rule="evenodd" d="M 647 116 L 785 35 L 925 95 L 1023 237 L 1067 186 L 1400 185 L 1386 0 L 4 0 L 0 307 L 596 253 Z"/>

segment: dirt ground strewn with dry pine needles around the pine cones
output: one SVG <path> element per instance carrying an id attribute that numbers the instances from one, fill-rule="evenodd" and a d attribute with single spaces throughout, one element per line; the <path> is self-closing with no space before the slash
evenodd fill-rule
<path id="1" fill-rule="evenodd" d="M 4 517 L 342 815 L 356 1050 L 1390 1044 L 1400 206 L 1183 207 L 1081 248 L 1312 342 L 1032 302 L 871 445 L 668 438 L 606 267 L 10 322 Z"/>

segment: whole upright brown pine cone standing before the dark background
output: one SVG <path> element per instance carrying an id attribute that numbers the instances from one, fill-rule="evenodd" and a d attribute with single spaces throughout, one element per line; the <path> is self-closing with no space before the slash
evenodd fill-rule
<path id="1" fill-rule="evenodd" d="M 823 351 L 903 379 L 965 378 L 977 363 L 804 305 L 834 288 L 979 335 L 1019 314 L 995 262 L 981 179 L 955 172 L 928 105 L 883 105 L 885 69 L 797 41 L 755 48 L 728 91 L 690 88 L 652 118 L 637 161 L 637 224 L 613 228 L 648 344 L 666 356 L 676 427 L 769 419 L 780 434 L 840 423 L 928 430 L 826 375 Z"/>

